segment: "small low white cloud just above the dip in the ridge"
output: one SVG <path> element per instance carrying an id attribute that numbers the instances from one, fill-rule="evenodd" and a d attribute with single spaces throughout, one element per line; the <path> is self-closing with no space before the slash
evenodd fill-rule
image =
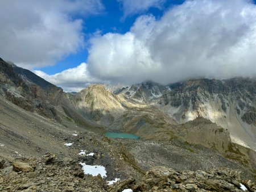
<path id="1" fill-rule="evenodd" d="M 104 81 L 92 77 L 87 66 L 83 62 L 76 68 L 67 69 L 53 75 L 48 75 L 40 70 L 34 70 L 34 73 L 54 85 L 61 86 L 64 91 L 80 91 L 90 84 L 104 83 Z"/>

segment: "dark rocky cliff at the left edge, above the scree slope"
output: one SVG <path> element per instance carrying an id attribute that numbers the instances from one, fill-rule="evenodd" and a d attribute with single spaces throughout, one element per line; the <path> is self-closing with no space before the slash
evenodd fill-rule
<path id="1" fill-rule="evenodd" d="M 60 87 L 2 59 L 0 82 L 0 94 L 15 105 L 28 111 L 36 111 L 47 118 L 60 120 L 54 107 L 63 98 Z"/>

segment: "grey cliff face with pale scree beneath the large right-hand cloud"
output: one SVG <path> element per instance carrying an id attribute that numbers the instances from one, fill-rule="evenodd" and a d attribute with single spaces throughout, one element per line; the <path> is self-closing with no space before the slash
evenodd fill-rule
<path id="1" fill-rule="evenodd" d="M 203 117 L 230 131 L 232 141 L 256 149 L 256 81 L 190 80 L 169 85 L 159 107 L 179 123 Z M 243 142 L 243 141 L 246 141 Z"/>

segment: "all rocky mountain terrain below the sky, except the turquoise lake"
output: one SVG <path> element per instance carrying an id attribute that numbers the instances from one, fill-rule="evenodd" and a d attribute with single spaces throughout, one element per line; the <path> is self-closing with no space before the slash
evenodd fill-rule
<path id="1" fill-rule="evenodd" d="M 0 190 L 256 190 L 255 99 L 255 78 L 65 93 L 0 59 Z M 16 169 L 23 163 L 29 173 Z M 80 163 L 104 166 L 106 178 L 85 174 Z"/>

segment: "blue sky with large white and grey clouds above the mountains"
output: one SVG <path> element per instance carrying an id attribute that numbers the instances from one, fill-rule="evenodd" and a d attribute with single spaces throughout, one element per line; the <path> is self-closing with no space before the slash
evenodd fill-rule
<path id="1" fill-rule="evenodd" d="M 0 0 L 0 57 L 60 86 L 256 76 L 252 0 Z"/>

